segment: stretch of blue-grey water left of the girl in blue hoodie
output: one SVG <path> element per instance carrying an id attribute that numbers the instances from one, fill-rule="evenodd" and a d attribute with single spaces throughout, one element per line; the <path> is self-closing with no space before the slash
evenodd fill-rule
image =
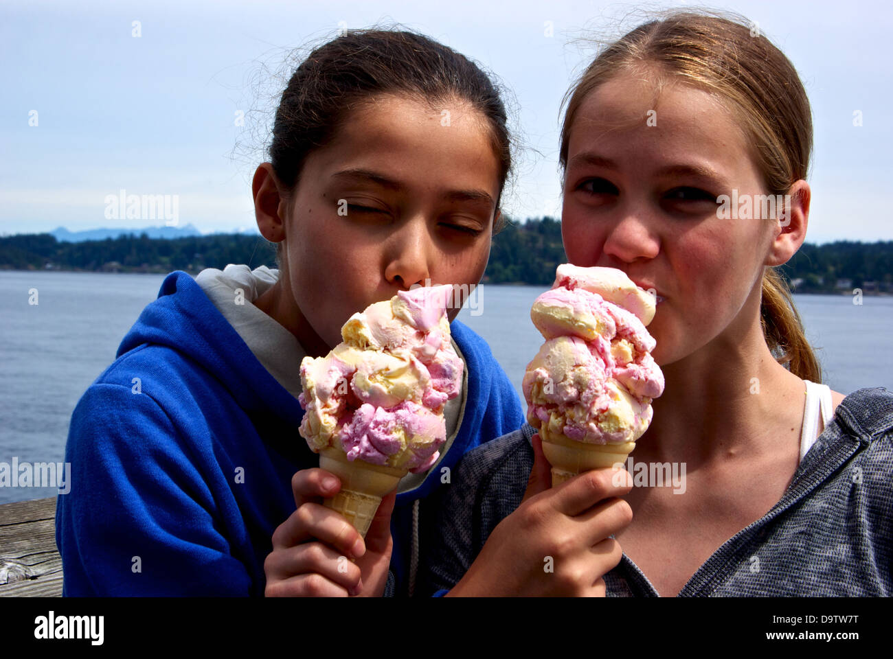
<path id="1" fill-rule="evenodd" d="M 12 463 L 13 456 L 20 463 L 63 461 L 74 406 L 114 361 L 121 339 L 158 296 L 163 279 L 0 272 L 0 463 Z M 56 493 L 4 487 L 0 504 Z"/>

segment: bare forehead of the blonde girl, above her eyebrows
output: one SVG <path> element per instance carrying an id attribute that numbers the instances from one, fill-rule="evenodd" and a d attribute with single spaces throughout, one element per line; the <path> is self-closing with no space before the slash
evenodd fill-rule
<path id="1" fill-rule="evenodd" d="M 672 79 L 660 86 L 655 75 L 624 71 L 580 104 L 568 161 L 575 152 L 598 147 L 749 163 L 748 141 L 738 116 L 715 94 Z"/>

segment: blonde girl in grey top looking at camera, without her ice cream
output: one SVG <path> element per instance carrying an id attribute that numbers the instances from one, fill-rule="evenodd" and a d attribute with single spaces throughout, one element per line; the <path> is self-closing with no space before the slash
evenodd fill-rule
<path id="1" fill-rule="evenodd" d="M 598 54 L 564 114 L 564 246 L 656 290 L 666 387 L 632 457 L 684 463 L 685 488 L 550 488 L 525 425 L 441 491 L 430 591 L 890 595 L 893 396 L 821 384 L 775 270 L 805 239 L 812 147 L 797 71 L 740 17 L 669 13 Z"/>

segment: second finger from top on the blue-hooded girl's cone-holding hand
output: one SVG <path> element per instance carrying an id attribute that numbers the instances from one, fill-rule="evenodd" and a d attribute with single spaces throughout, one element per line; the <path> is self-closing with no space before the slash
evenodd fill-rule
<path id="1" fill-rule="evenodd" d="M 366 552 L 363 538 L 344 515 L 320 504 L 307 503 L 289 515 L 273 533 L 274 549 L 296 546 L 315 539 L 331 546 L 348 558 Z"/>

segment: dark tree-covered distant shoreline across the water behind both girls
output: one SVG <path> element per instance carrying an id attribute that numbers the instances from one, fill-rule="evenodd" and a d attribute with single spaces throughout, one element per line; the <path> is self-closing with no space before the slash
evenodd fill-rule
<path id="1" fill-rule="evenodd" d="M 79 242 L 60 242 L 48 233 L 0 237 L 0 270 L 159 275 L 181 270 L 195 275 L 205 268 L 224 268 L 227 263 L 274 268 L 276 252 L 263 237 L 243 234 L 149 238 L 143 232 Z M 482 279 L 494 285 L 548 288 L 561 263 L 567 263 L 561 222 L 529 218 L 508 224 L 494 238 Z M 804 243 L 777 271 L 797 294 L 891 296 L 893 240 L 839 241 L 822 246 Z"/>

